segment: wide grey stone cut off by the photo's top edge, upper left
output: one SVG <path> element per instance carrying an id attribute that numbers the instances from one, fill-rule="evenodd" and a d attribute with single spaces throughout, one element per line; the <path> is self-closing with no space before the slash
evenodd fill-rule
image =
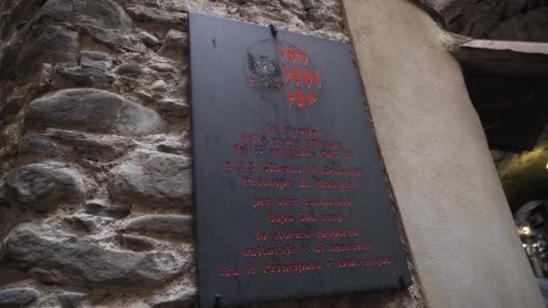
<path id="1" fill-rule="evenodd" d="M 132 29 L 132 19 L 112 0 L 50 0 L 38 16 L 68 23 L 92 23 L 120 32 Z"/>

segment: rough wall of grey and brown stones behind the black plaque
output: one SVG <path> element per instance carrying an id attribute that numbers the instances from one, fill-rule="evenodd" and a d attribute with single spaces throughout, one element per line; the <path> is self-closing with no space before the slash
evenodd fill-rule
<path id="1" fill-rule="evenodd" d="M 0 306 L 195 305 L 189 9 L 349 41 L 337 0 L 2 1 Z M 292 303 L 366 304 L 424 305 Z"/>

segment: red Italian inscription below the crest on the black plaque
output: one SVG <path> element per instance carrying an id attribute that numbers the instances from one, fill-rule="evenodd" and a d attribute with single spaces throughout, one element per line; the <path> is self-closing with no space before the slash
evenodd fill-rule
<path id="1" fill-rule="evenodd" d="M 353 165 L 357 161 L 352 149 L 344 147 L 342 141 L 323 139 L 315 128 L 267 123 L 259 132 L 242 132 L 235 138 L 231 150 L 239 154 L 239 159 L 225 160 L 224 172 L 229 173 L 229 178 L 239 183 L 237 185 L 251 191 L 251 197 L 246 200 L 248 211 L 256 211 L 254 216 L 269 225 L 271 231 L 254 231 L 254 242 L 241 251 L 245 268 L 227 264 L 219 268 L 219 276 L 303 274 L 329 271 L 333 266 L 392 264 L 388 256 L 371 257 L 368 254 L 356 258 L 342 254 L 373 249 L 363 240 L 366 236 L 361 235 L 359 229 L 344 223 L 345 216 L 352 213 L 352 198 L 329 192 L 355 189 L 354 180 L 367 177 L 362 166 Z M 284 157 L 288 164 L 273 162 L 276 157 Z M 323 164 L 301 165 L 296 158 L 315 158 Z M 332 167 L 333 160 L 350 164 L 345 164 L 349 167 L 344 168 Z M 257 189 L 261 187 L 276 188 L 279 194 L 261 195 Z M 327 196 L 311 194 L 318 191 Z M 290 228 L 281 228 L 282 225 Z M 301 241 L 309 239 L 314 239 L 315 244 Z M 309 256 L 299 260 L 297 251 Z M 328 254 L 329 258 L 317 260 L 317 254 Z M 270 259 L 261 260 L 274 256 L 293 258 L 276 263 Z"/>

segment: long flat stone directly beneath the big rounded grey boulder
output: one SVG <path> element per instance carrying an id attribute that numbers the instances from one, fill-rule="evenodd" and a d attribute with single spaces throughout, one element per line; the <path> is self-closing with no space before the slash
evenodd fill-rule
<path id="1" fill-rule="evenodd" d="M 103 136 L 75 131 L 49 130 L 26 135 L 21 154 L 44 158 L 74 158 L 92 161 L 118 159 L 134 147 L 134 142 L 118 136 Z"/>

